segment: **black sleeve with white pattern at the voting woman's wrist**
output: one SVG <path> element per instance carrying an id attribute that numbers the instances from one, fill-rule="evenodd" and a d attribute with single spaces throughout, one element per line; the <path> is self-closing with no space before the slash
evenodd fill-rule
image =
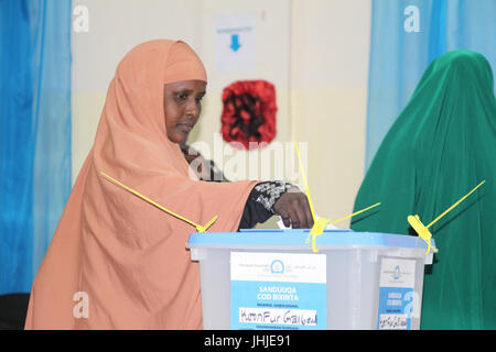
<path id="1" fill-rule="evenodd" d="M 295 186 L 281 180 L 257 184 L 246 201 L 238 231 L 269 220 L 274 215 L 272 208 L 276 201 L 293 187 Z"/>

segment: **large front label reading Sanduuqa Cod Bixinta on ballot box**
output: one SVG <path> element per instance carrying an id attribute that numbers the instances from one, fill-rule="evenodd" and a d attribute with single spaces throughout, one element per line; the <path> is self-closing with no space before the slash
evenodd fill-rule
<path id="1" fill-rule="evenodd" d="M 230 328 L 325 329 L 325 254 L 231 252 Z"/>

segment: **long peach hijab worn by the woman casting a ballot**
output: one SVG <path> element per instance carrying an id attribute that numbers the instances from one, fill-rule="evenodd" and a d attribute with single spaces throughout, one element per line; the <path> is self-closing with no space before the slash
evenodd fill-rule
<path id="1" fill-rule="evenodd" d="M 202 328 L 198 264 L 185 249 L 196 230 L 99 174 L 196 223 L 218 215 L 208 231 L 237 231 L 256 182 L 193 179 L 166 136 L 164 85 L 188 79 L 206 81 L 206 74 L 183 42 L 147 42 L 119 63 L 95 143 L 34 279 L 26 329 Z"/>

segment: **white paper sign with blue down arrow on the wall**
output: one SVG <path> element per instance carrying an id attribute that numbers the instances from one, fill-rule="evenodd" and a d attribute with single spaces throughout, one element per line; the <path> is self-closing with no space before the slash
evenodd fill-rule
<path id="1" fill-rule="evenodd" d="M 216 16 L 216 54 L 219 73 L 256 69 L 254 23 L 251 13 L 241 12 Z"/>

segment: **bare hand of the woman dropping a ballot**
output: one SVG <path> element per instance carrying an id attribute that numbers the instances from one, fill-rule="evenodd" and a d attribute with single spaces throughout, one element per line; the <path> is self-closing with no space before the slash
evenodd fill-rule
<path id="1" fill-rule="evenodd" d="M 289 190 L 273 205 L 273 211 L 281 216 L 287 228 L 311 229 L 313 227 L 312 211 L 305 194 Z"/>

